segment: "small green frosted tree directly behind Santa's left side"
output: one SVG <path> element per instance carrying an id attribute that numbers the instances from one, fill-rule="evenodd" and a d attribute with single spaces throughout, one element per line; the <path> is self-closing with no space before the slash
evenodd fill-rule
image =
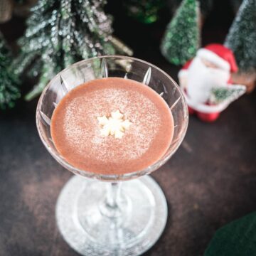
<path id="1" fill-rule="evenodd" d="M 175 65 L 183 65 L 200 46 L 199 6 L 196 0 L 183 0 L 166 28 L 161 53 Z"/>

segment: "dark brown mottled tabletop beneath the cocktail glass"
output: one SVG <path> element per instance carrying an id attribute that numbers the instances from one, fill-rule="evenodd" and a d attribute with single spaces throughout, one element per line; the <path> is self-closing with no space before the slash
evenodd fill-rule
<path id="1" fill-rule="evenodd" d="M 9 24 L 1 28 L 12 40 L 17 37 L 13 33 L 21 33 L 11 33 Z M 146 39 L 152 41 L 151 36 Z M 161 57 L 158 41 L 145 46 L 144 40 L 138 41 L 135 56 L 176 78 L 178 69 Z M 58 193 L 72 174 L 43 147 L 35 110 L 33 101 L 0 114 L 0 255 L 78 255 L 55 225 Z M 256 210 L 255 166 L 256 93 L 234 102 L 214 124 L 191 117 L 181 148 L 152 174 L 166 194 L 169 219 L 145 255 L 202 255 L 216 229 Z"/>

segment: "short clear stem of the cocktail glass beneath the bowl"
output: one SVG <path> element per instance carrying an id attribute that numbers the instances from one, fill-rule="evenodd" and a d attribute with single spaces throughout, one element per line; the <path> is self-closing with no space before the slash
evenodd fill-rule
<path id="1" fill-rule="evenodd" d="M 121 183 L 119 182 L 107 183 L 107 195 L 101 207 L 103 215 L 107 215 L 110 218 L 117 218 L 121 214 L 118 204 L 120 187 Z"/>

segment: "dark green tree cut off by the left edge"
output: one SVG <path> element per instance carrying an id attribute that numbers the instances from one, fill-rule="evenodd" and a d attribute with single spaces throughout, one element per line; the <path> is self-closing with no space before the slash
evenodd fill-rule
<path id="1" fill-rule="evenodd" d="M 11 70 L 11 53 L 0 33 L 0 110 L 14 107 L 20 97 L 18 79 Z"/>

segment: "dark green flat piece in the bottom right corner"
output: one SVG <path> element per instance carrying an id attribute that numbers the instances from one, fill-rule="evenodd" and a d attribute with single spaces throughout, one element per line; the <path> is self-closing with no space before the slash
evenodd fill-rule
<path id="1" fill-rule="evenodd" d="M 256 256 L 256 212 L 217 230 L 204 256 Z"/>

